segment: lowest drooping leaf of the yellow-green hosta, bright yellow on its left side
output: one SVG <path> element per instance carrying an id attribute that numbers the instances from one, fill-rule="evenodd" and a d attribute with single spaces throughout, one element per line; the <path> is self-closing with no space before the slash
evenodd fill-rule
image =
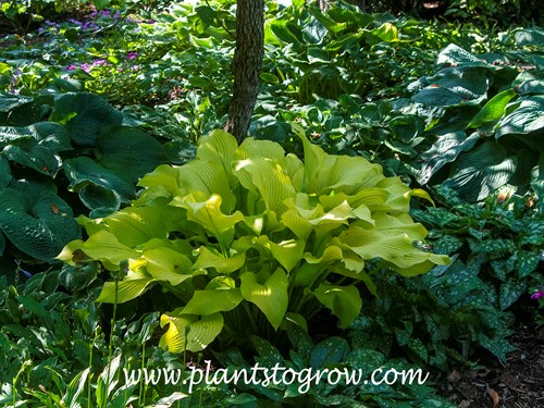
<path id="1" fill-rule="evenodd" d="M 199 318 L 184 314 L 183 308 L 161 316 L 161 327 L 169 324 L 159 346 L 171 353 L 201 351 L 221 333 L 223 316 L 213 313 Z"/>

